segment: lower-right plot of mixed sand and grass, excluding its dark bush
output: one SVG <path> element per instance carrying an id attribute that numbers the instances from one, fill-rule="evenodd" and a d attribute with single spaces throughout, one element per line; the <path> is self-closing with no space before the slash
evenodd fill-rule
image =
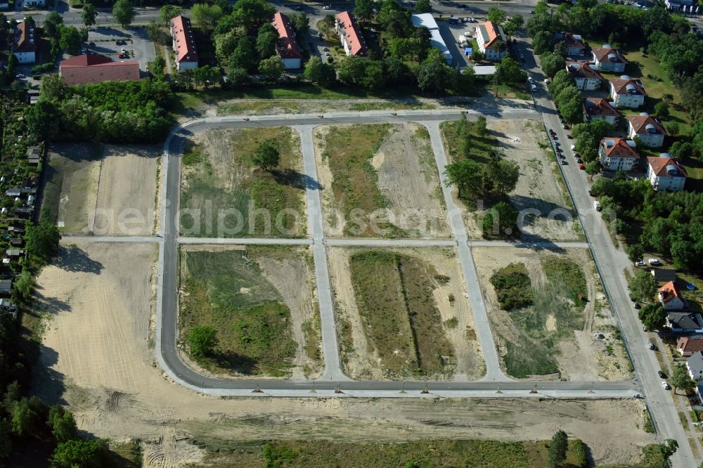
<path id="1" fill-rule="evenodd" d="M 630 378 L 624 346 L 586 249 L 475 248 L 472 252 L 508 375 L 574 381 Z M 511 264 L 524 265 L 533 298 L 531 306 L 504 311 L 490 279 Z M 585 302 L 579 301 L 579 294 Z"/>

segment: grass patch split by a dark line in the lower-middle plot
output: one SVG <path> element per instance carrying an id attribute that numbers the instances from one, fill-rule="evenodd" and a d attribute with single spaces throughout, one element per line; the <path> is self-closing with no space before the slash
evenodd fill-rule
<path id="1" fill-rule="evenodd" d="M 434 268 L 380 250 L 352 255 L 349 268 L 364 330 L 385 370 L 392 376 L 446 372 L 453 348 L 432 295 Z"/>

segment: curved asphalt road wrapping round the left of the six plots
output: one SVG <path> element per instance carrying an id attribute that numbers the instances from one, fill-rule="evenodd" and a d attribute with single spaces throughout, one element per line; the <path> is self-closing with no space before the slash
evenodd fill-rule
<path id="1" fill-rule="evenodd" d="M 462 112 L 404 111 L 354 112 L 325 115 L 280 117 L 218 117 L 187 122 L 174 129 L 164 145 L 162 177 L 161 237 L 159 242 L 159 288 L 157 292 L 157 359 L 167 374 L 183 386 L 205 394 L 219 396 L 266 394 L 269 396 L 572 396 L 624 397 L 633 393 L 632 382 L 389 382 L 352 381 L 342 372 L 325 370 L 317 382 L 272 379 L 218 379 L 205 377 L 188 368 L 179 358 L 177 342 L 178 297 L 178 208 L 181 181 L 181 148 L 186 138 L 210 129 L 255 126 L 314 126 L 319 124 L 370 124 L 388 122 L 439 122 L 457 119 Z M 475 111 L 465 111 L 476 114 Z M 483 112 L 493 117 L 521 119 L 534 117 L 533 110 L 495 110 Z M 326 261 L 326 260 L 325 260 Z M 336 351 L 336 350 L 335 350 Z M 486 350 L 488 351 L 488 350 Z M 484 351 L 484 353 L 486 352 Z M 335 359 L 336 358 L 336 359 Z M 338 363 L 338 356 L 325 358 L 325 363 Z M 494 370 L 495 371 L 495 370 Z M 498 368 L 498 372 L 500 369 Z M 501 375 L 498 373 L 497 375 Z"/>

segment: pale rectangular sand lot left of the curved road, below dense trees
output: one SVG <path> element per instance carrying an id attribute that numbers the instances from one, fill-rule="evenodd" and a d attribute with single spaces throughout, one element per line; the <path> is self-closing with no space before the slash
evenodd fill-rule
<path id="1" fill-rule="evenodd" d="M 105 145 L 93 230 L 96 235 L 154 232 L 160 163 L 160 151 L 155 146 Z"/>

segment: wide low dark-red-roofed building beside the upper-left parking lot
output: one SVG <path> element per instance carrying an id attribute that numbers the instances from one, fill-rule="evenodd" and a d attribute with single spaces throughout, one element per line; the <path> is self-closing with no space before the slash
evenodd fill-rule
<path id="1" fill-rule="evenodd" d="M 66 84 L 80 85 L 141 79 L 138 62 L 113 62 L 108 57 L 98 55 L 83 55 L 62 60 L 58 65 L 58 74 Z"/>

